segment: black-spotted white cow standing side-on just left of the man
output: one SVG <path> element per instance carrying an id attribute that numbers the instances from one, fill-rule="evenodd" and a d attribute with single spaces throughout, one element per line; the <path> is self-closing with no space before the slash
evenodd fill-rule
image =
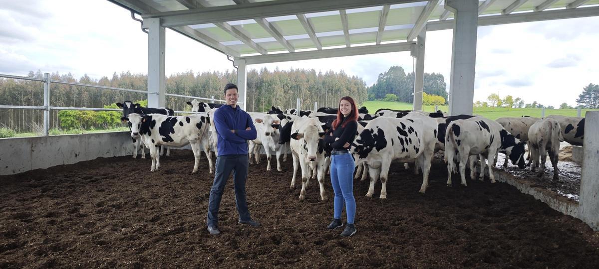
<path id="1" fill-rule="evenodd" d="M 208 146 L 208 125 L 210 122 L 208 117 L 198 114 L 173 117 L 161 114 L 140 115 L 132 113 L 129 114 L 129 117 L 123 117 L 121 120 L 129 124 L 132 135 L 134 133 L 141 135 L 141 139 L 149 146 L 150 157 L 152 157 L 151 172 L 160 168 L 159 146 L 180 147 L 190 144 L 195 157 L 192 173 L 198 172 L 199 155 L 202 148 L 208 158 L 209 173 L 212 173 L 213 164 L 210 158 L 210 147 Z"/>

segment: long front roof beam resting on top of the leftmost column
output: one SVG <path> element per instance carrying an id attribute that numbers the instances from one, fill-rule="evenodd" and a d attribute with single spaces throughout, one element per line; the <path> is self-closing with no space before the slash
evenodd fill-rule
<path id="1" fill-rule="evenodd" d="M 225 5 L 222 7 L 196 8 L 144 14 L 142 17 L 159 17 L 162 26 L 199 25 L 204 23 L 229 22 L 265 17 L 305 14 L 349 8 L 376 7 L 385 4 L 403 4 L 418 0 L 278 0 Z M 144 26 L 147 27 L 147 26 Z"/>

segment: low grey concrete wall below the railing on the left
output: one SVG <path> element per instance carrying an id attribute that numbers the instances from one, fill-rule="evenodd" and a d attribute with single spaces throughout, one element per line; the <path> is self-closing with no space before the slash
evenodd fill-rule
<path id="1" fill-rule="evenodd" d="M 130 155 L 132 151 L 129 132 L 0 139 L 0 175 Z"/>

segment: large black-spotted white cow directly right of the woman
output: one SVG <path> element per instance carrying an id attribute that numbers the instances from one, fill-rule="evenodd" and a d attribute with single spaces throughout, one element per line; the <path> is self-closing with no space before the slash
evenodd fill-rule
<path id="1" fill-rule="evenodd" d="M 427 123 L 427 121 L 429 121 Z M 435 128 L 437 122 L 432 118 L 376 118 L 368 122 L 364 130 L 352 143 L 352 154 L 355 165 L 366 162 L 370 175 L 370 187 L 366 196 L 372 197 L 374 183 L 380 177 L 382 189 L 380 198 L 387 198 L 386 182 L 391 161 L 417 161 L 422 167 L 422 187 L 424 193 L 428 188 L 428 175 L 431 168 L 432 154 L 435 147 L 436 129 L 425 130 L 425 126 Z"/>

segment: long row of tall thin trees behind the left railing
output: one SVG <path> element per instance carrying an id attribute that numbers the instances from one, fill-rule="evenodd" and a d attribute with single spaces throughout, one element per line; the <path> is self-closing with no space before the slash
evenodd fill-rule
<path id="1" fill-rule="evenodd" d="M 43 78 L 41 71 L 30 71 L 26 77 Z M 79 82 L 92 85 L 129 88 L 133 90 L 147 90 L 147 75 L 132 74 L 131 72 L 113 73 L 112 77 L 102 77 L 93 80 L 87 75 L 75 78 L 72 74 L 50 75 L 52 80 Z M 187 71 L 167 77 L 167 93 L 186 96 L 199 96 L 223 99 L 223 88 L 227 83 L 237 82 L 237 73 L 229 72 L 198 72 Z M 0 78 L 0 105 L 43 106 L 43 82 L 13 80 Z M 291 69 L 269 71 L 252 69 L 247 72 L 247 111 L 263 112 L 271 106 L 282 108 L 295 108 L 296 98 L 302 99 L 302 109 L 313 109 L 314 102 L 319 106 L 337 106 L 341 96 L 352 96 L 358 103 L 367 100 L 365 82 L 355 76 L 348 76 L 343 71 L 316 72 L 314 69 Z M 93 87 L 66 85 L 59 83 L 50 84 L 50 105 L 84 108 L 114 108 L 114 103 L 124 100 L 144 100 L 147 94 L 131 93 L 119 90 L 102 90 Z M 189 111 L 186 102 L 189 98 L 166 96 L 165 103 L 168 108 L 175 111 Z M 61 124 L 61 113 L 50 111 L 50 127 L 75 126 L 75 123 Z M 62 112 L 62 117 L 88 118 L 81 127 L 104 128 L 114 125 L 113 113 L 95 115 L 97 112 Z M 93 117 L 92 117 L 93 115 Z M 104 120 L 95 123 L 92 119 Z M 16 132 L 41 132 L 43 126 L 43 112 L 32 109 L 0 109 L 0 128 L 6 127 Z"/>

